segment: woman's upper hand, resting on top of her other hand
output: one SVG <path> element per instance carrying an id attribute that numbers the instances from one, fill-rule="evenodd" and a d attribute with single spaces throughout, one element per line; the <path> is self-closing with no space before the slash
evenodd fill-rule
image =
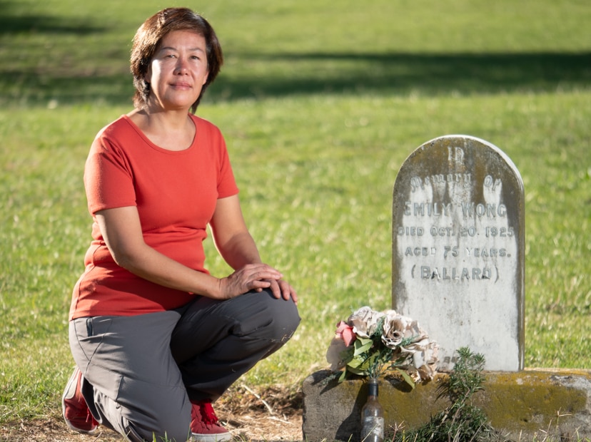
<path id="1" fill-rule="evenodd" d="M 246 264 L 228 277 L 219 279 L 220 297 L 230 299 L 251 290 L 261 292 L 271 287 L 271 281 L 282 277 L 281 272 L 267 264 Z"/>

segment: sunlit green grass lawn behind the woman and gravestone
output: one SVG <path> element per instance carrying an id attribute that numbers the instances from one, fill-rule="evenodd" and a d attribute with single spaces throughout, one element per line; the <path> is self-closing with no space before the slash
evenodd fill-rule
<path id="1" fill-rule="evenodd" d="M 338 320 L 390 307 L 398 168 L 452 133 L 497 145 L 525 183 L 525 365 L 591 369 L 591 4 L 183 5 L 226 53 L 198 114 L 226 135 L 261 255 L 301 299 L 296 336 L 246 384 L 298 388 Z M 90 240 L 84 160 L 131 109 L 131 38 L 161 7 L 0 0 L 0 422 L 60 412 Z"/>

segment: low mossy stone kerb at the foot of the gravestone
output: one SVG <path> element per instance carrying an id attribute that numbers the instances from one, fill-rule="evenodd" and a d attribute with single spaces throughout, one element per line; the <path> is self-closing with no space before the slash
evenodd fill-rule
<path id="1" fill-rule="evenodd" d="M 360 412 L 367 399 L 363 379 L 335 384 L 330 371 L 303 381 L 303 440 L 360 442 Z M 403 381 L 380 379 L 385 425 L 418 428 L 449 405 L 441 395 L 447 374 L 410 390 Z M 508 441 L 578 441 L 591 437 L 591 371 L 524 369 L 487 372 L 473 405 Z"/>

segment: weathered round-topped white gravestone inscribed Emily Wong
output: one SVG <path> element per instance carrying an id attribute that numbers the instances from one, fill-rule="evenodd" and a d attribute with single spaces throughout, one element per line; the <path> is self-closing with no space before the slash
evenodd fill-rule
<path id="1" fill-rule="evenodd" d="M 485 356 L 485 369 L 519 371 L 524 359 L 524 192 L 494 145 L 465 135 L 411 153 L 393 192 L 393 308 L 440 346 Z"/>

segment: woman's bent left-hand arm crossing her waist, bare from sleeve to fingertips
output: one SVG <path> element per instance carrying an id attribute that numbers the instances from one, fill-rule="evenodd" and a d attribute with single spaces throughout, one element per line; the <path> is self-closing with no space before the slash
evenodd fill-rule
<path id="1" fill-rule="evenodd" d="M 95 216 L 115 262 L 129 272 L 164 287 L 228 299 L 252 289 L 271 287 L 271 281 L 281 278 L 279 272 L 261 264 L 260 259 L 222 279 L 186 267 L 146 245 L 136 207 L 101 210 Z"/>

